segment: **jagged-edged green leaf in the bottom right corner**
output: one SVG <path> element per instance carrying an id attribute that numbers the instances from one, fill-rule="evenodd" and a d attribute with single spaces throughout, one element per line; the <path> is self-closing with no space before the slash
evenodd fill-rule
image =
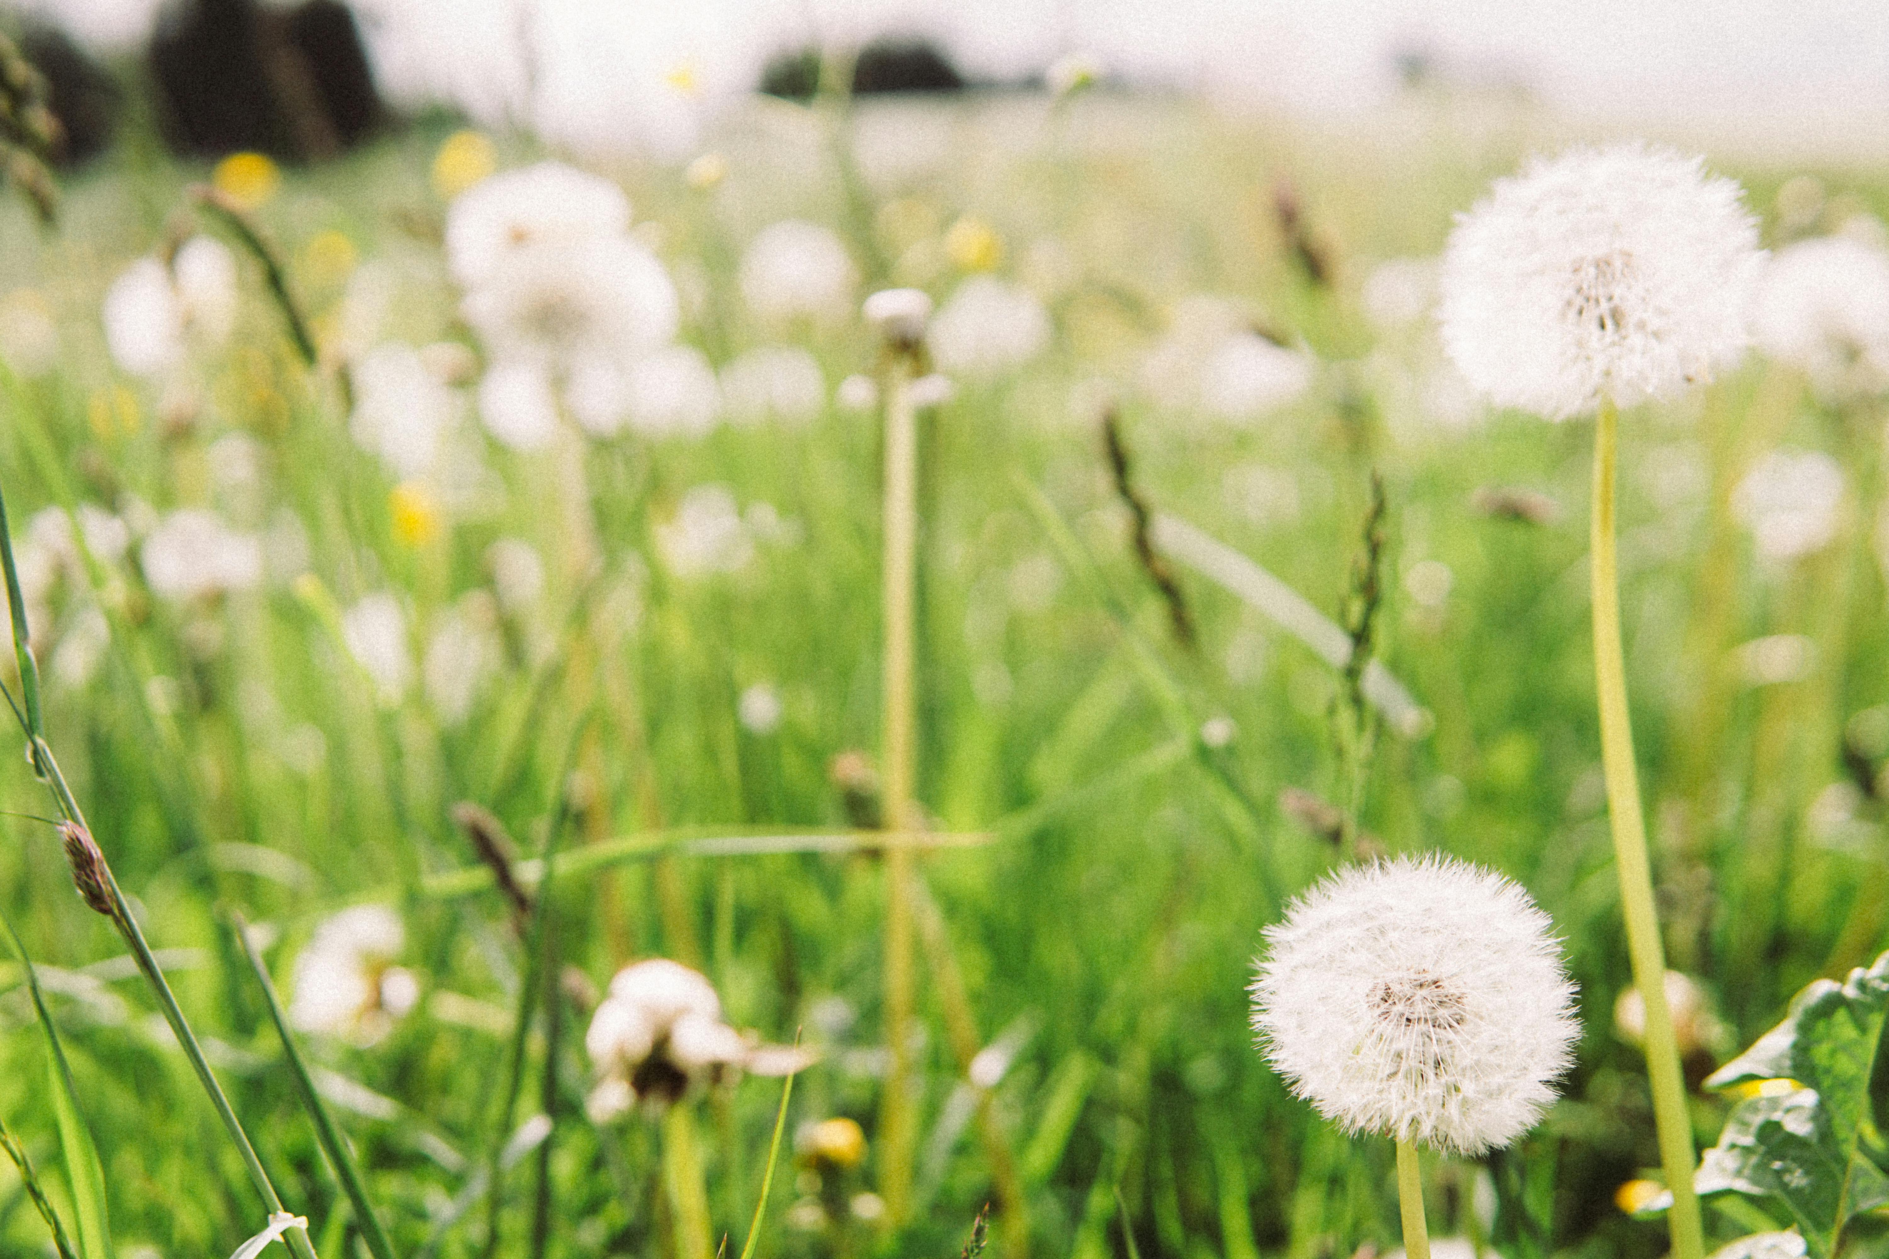
<path id="1" fill-rule="evenodd" d="M 1817 980 L 1783 1023 L 1719 1068 L 1706 1087 L 1785 1082 L 1742 1100 L 1700 1161 L 1698 1193 L 1770 1199 L 1791 1212 L 1813 1257 L 1836 1253 L 1844 1225 L 1889 1204 L 1883 1146 L 1883 1036 L 1889 953 L 1844 983 Z"/>

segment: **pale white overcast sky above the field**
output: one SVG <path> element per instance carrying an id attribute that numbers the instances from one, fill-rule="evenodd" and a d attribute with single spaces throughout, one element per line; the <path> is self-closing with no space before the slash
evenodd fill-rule
<path id="1" fill-rule="evenodd" d="M 157 0 L 30 0 L 125 45 Z M 710 94 L 752 85 L 808 36 L 929 34 L 975 74 L 1022 76 L 1064 51 L 1124 77 L 1260 96 L 1303 111 L 1383 102 L 1392 57 L 1532 87 L 1572 113 L 1689 119 L 1889 115 L 1889 0 L 359 0 L 387 85 L 476 115 L 516 109 L 529 32 L 540 117 L 595 134 L 661 130 L 689 66 Z"/>

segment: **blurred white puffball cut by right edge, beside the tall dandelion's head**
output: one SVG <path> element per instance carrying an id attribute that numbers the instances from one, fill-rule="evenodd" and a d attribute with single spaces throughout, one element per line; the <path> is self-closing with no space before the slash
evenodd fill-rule
<path id="1" fill-rule="evenodd" d="M 1825 393 L 1889 387 L 1889 253 L 1849 236 L 1785 245 L 1764 268 L 1751 330 Z"/>

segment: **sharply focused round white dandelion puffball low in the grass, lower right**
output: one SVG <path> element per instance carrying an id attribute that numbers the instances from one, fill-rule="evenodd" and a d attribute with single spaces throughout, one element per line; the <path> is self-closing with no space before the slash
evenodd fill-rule
<path id="1" fill-rule="evenodd" d="M 1453 857 L 1351 866 L 1266 931 L 1252 1027 L 1292 1091 L 1347 1133 L 1455 1153 L 1506 1146 L 1579 1036 L 1549 917 Z"/>

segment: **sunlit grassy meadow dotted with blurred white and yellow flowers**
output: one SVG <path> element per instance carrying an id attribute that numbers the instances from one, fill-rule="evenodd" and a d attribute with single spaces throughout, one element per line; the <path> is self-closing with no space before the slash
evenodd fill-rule
<path id="1" fill-rule="evenodd" d="M 57 223 L 9 202 L 0 491 L 38 680 L 0 668 L 43 746 L 4 770 L 0 1251 L 227 1255 L 268 1223 L 261 1170 L 329 1259 L 1387 1253 L 1392 1144 L 1292 1097 L 1247 985 L 1322 874 L 1434 849 L 1545 910 L 1581 1029 L 1540 1125 L 1426 1157 L 1439 1259 L 1666 1253 L 1617 1014 L 1594 423 L 1479 402 L 1430 317 L 1453 215 L 1581 138 L 1502 100 L 1343 128 L 1081 89 L 761 100 L 686 166 L 429 119 L 281 172 L 134 136 Z M 506 277 L 467 279 L 455 198 L 546 160 L 627 194 L 618 243 L 674 293 L 663 370 L 586 383 L 493 330 Z M 1885 249 L 1880 170 L 1708 166 L 1774 257 Z M 861 317 L 895 287 L 933 298 L 924 344 Z M 1881 323 L 1621 413 L 1700 1150 L 1778 1093 L 1706 1078 L 1889 948 Z M 640 959 L 714 985 L 701 1070 L 599 1053 Z M 1710 1246 L 1889 1253 L 1872 983 L 1842 1202 L 1753 1172 L 1708 1195 Z"/>

